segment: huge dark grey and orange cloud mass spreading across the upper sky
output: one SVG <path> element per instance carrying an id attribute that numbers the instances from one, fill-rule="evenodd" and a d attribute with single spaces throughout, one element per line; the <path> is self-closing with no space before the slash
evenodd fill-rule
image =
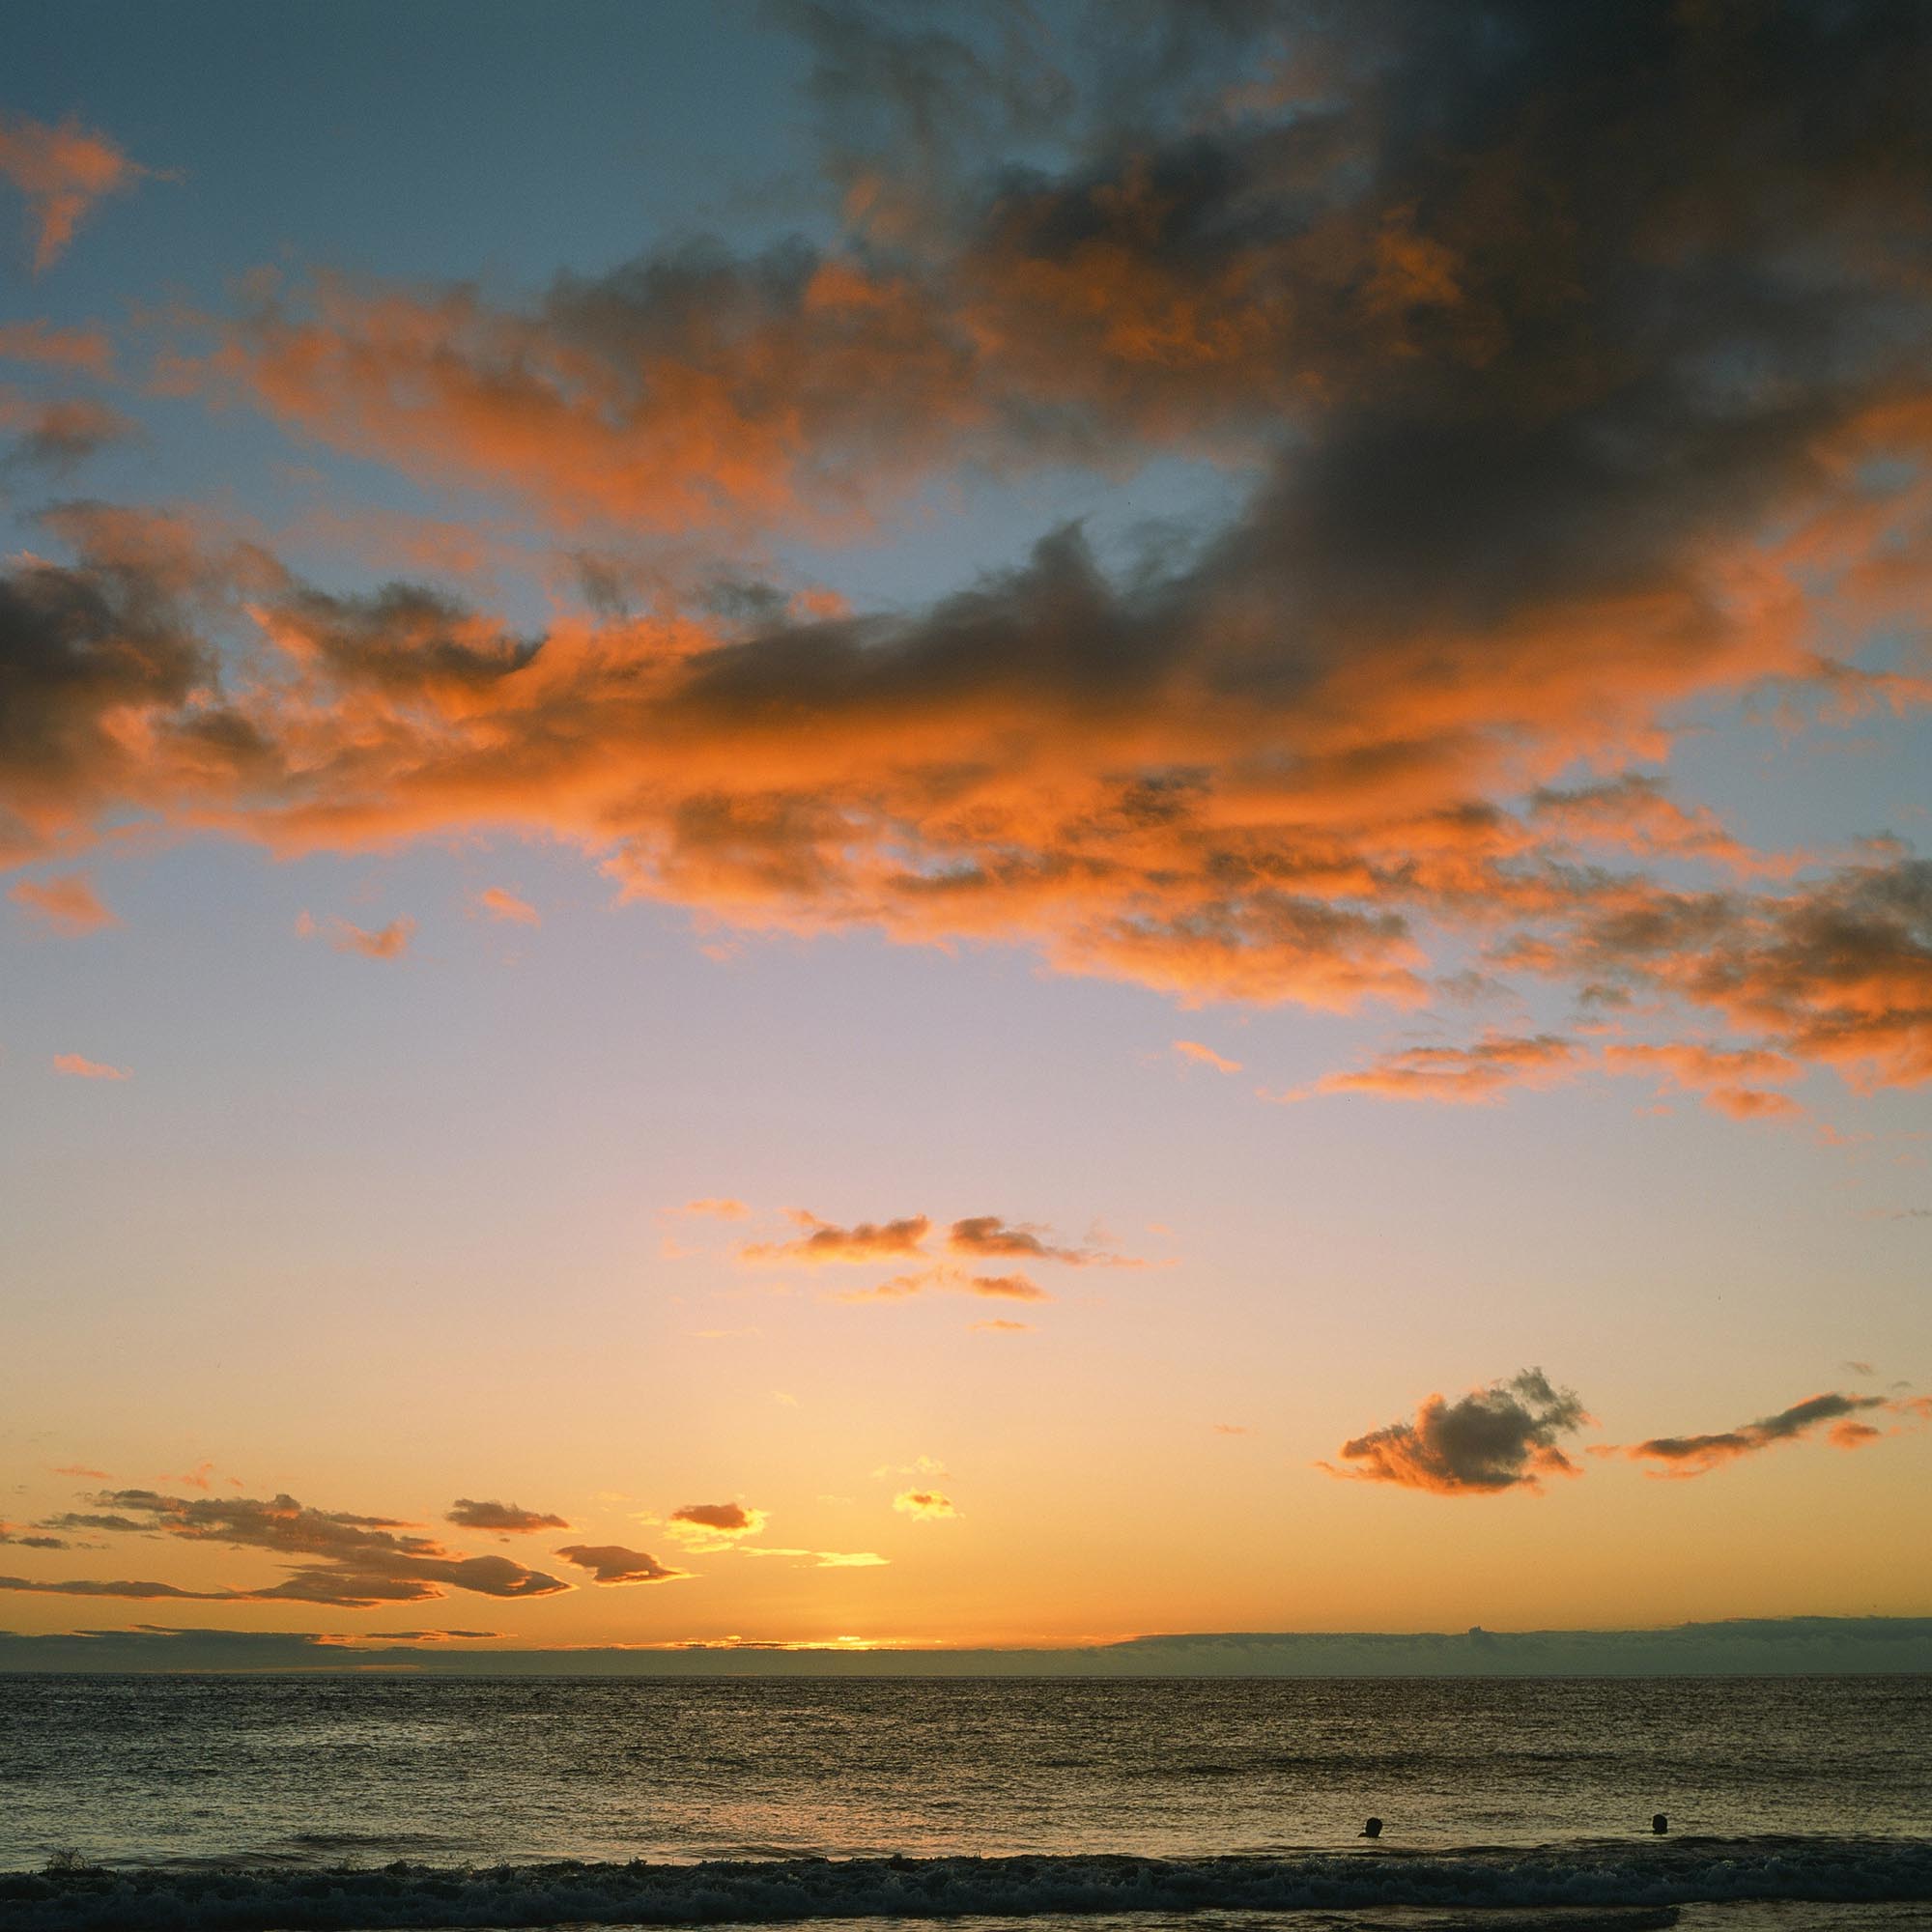
<path id="1" fill-rule="evenodd" d="M 1922 862 L 1801 875 L 1658 773 L 1689 707 L 1924 701 L 1847 659 L 1932 595 L 1932 400 L 1891 352 L 1932 315 L 1897 274 L 1932 162 L 1868 131 L 1915 126 L 1913 62 L 1700 8 L 1640 83 L 1561 10 L 1515 15 L 1507 79 L 1406 15 L 1372 62 L 1310 31 L 1316 118 L 1179 116 L 991 185 L 852 168 L 819 247 L 520 305 L 321 280 L 216 319 L 178 384 L 516 495 L 570 533 L 576 601 L 526 636 L 70 506 L 75 562 L 0 591 L 0 854 L 128 811 L 276 852 L 541 835 L 736 929 L 1323 1010 L 1420 1007 L 1476 951 L 1857 1084 L 1932 1076 Z M 1439 141 L 1405 135 L 1418 89 Z M 935 479 L 1177 454 L 1244 498 L 1142 570 L 1047 529 L 925 609 L 744 582 Z M 701 535 L 732 595 L 639 591 L 638 531 Z M 211 607 L 255 634 L 213 649 Z M 1488 1099 L 1571 1053 L 1492 1036 L 1310 1092 Z"/>

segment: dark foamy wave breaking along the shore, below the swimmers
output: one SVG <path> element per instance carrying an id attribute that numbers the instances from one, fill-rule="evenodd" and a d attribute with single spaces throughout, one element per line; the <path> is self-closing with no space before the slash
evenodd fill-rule
<path id="1" fill-rule="evenodd" d="M 388 1932 L 1072 1913 L 1932 1899 L 1932 1839 L 1750 1837 L 1285 1857 L 769 1859 L 0 1874 L 0 1932 Z M 1648 1918 L 1646 1922 L 1667 1922 Z"/>

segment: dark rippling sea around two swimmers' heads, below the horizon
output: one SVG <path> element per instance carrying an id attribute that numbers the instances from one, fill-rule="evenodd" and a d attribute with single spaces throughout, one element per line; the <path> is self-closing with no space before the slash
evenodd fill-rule
<path id="1" fill-rule="evenodd" d="M 804 1920 L 1901 1932 L 1932 1679 L 0 1677 L 0 1932 Z"/>

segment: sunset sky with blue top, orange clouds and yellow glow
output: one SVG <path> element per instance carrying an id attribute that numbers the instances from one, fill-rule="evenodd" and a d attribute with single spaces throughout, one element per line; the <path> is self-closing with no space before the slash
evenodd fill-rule
<path id="1" fill-rule="evenodd" d="M 8 54 L 0 1629 L 1932 1613 L 1932 12 Z"/>

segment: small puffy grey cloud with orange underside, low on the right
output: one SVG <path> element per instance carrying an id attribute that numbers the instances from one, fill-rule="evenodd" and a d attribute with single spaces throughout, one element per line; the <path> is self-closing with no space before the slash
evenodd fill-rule
<path id="1" fill-rule="evenodd" d="M 1588 1420 L 1575 1391 L 1557 1389 L 1542 1370 L 1526 1368 L 1455 1403 L 1432 1395 L 1414 1422 L 1391 1422 L 1343 1443 L 1337 1453 L 1350 1468 L 1329 1463 L 1318 1468 L 1432 1495 L 1538 1490 L 1544 1476 L 1577 1474 L 1557 1437 Z"/>

